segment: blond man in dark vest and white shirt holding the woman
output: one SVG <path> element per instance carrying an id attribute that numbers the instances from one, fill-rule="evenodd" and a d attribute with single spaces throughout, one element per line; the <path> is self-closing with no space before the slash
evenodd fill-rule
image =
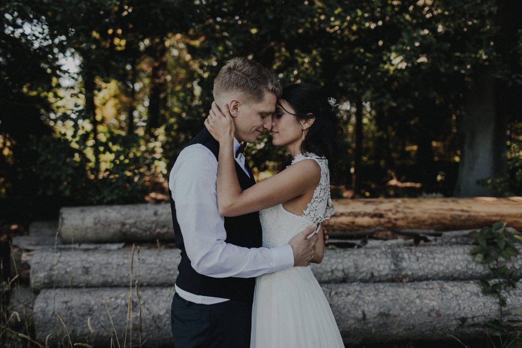
<path id="1" fill-rule="evenodd" d="M 271 128 L 281 86 L 260 64 L 231 59 L 214 80 L 214 99 L 234 115 L 235 169 L 243 190 L 255 184 L 241 153 Z M 315 226 L 288 245 L 262 248 L 259 213 L 221 217 L 216 197 L 219 143 L 207 129 L 180 152 L 169 177 L 176 246 L 181 249 L 171 327 L 176 347 L 248 347 L 257 275 L 310 265 Z"/>

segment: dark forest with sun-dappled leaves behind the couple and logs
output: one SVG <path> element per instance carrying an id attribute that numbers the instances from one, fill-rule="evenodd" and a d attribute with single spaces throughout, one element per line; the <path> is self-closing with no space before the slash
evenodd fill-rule
<path id="1" fill-rule="evenodd" d="M 0 4 L 3 223 L 167 200 L 233 56 L 337 99 L 335 198 L 522 196 L 520 1 Z M 289 160 L 246 152 L 258 178 Z"/>

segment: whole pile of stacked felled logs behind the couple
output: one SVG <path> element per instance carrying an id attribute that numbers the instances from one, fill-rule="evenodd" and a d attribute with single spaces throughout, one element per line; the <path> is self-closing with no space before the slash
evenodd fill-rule
<path id="1" fill-rule="evenodd" d="M 495 296 L 482 293 L 479 280 L 490 278 L 490 271 L 473 261 L 468 234 L 499 220 L 522 230 L 522 199 L 490 199 L 475 206 L 472 199 L 416 199 L 416 204 L 401 199 L 402 213 L 396 199 L 334 202 L 337 213 L 327 224 L 334 244 L 359 234 L 360 240 L 350 242 L 362 247 L 327 248 L 323 263 L 312 269 L 345 343 L 485 337 L 486 323 L 500 317 L 500 306 Z M 18 249 L 25 250 L 19 259 L 29 260 L 37 294 L 33 322 L 38 340 L 53 333 L 54 339 L 70 337 L 73 343 L 96 346 L 109 346 L 111 340 L 172 346 L 170 305 L 180 256 L 172 244 L 170 219 L 168 205 L 63 208 L 60 226 L 49 233 L 46 246 L 18 242 Z M 468 230 L 448 231 L 452 219 Z M 364 238 L 377 226 L 420 235 L 421 242 Z M 508 267 L 522 277 L 521 257 Z M 504 321 L 515 329 L 522 328 L 519 288 L 506 294 L 503 309 Z"/>

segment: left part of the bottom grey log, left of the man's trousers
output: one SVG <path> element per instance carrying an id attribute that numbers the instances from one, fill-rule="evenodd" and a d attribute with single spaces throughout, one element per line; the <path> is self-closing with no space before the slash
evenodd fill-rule
<path id="1" fill-rule="evenodd" d="M 145 287 L 140 290 L 139 299 L 133 287 L 132 315 L 127 320 L 130 294 L 130 287 L 44 289 L 33 308 L 37 340 L 44 342 L 50 333 L 54 340 L 67 337 L 59 314 L 73 345 L 109 347 L 112 337 L 112 346 L 124 346 L 124 341 L 125 346 L 140 346 L 141 340 L 147 347 L 172 347 L 170 308 L 174 287 Z"/>

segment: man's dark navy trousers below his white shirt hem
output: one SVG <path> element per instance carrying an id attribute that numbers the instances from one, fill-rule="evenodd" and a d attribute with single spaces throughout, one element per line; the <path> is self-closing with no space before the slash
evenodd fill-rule
<path id="1" fill-rule="evenodd" d="M 174 294 L 171 329 L 175 348 L 250 347 L 252 303 L 229 300 L 201 305 Z"/>

